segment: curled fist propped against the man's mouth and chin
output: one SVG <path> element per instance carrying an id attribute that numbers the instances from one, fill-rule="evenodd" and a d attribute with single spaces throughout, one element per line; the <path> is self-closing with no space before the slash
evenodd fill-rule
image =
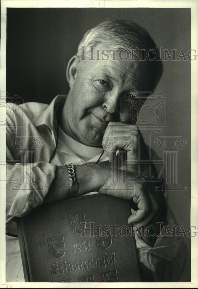
<path id="1" fill-rule="evenodd" d="M 111 147 L 108 147 L 109 140 L 113 142 L 113 146 Z M 110 162 L 112 162 L 112 151 L 124 149 L 127 156 L 127 171 L 139 173 L 138 161 L 149 159 L 143 137 L 136 125 L 121 125 L 119 122 L 109 122 L 103 136 L 102 146 Z M 133 162 L 136 163 L 134 164 Z M 141 165 L 140 168 L 141 174 L 148 177 L 147 166 Z"/>

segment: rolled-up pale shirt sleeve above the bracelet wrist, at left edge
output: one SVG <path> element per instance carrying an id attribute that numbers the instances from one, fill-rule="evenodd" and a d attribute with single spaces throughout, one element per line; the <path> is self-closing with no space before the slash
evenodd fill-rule
<path id="1" fill-rule="evenodd" d="M 6 224 L 43 203 L 55 170 L 55 165 L 46 162 L 6 165 Z"/>

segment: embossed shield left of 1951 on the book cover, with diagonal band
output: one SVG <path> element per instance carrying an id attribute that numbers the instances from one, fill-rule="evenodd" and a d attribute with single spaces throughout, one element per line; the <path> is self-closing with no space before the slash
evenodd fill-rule
<path id="1" fill-rule="evenodd" d="M 65 254 L 65 242 L 63 236 L 48 239 L 49 251 L 52 257 L 61 258 Z"/>

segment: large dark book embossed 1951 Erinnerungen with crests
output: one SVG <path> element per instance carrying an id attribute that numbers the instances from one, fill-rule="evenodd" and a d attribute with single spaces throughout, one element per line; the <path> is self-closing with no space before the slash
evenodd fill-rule
<path id="1" fill-rule="evenodd" d="M 139 282 L 130 202 L 102 194 L 40 205 L 17 218 L 26 282 Z"/>

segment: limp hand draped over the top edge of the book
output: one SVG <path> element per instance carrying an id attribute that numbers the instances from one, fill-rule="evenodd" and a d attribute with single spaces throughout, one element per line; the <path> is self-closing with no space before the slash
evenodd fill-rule
<path id="1" fill-rule="evenodd" d="M 102 178 L 103 185 L 99 193 L 108 194 L 114 197 L 132 200 L 137 204 L 138 210 L 128 218 L 130 225 L 140 228 L 156 222 L 167 223 L 166 202 L 164 194 L 155 190 L 155 184 L 148 181 L 145 177 L 140 176 L 138 179 L 131 180 L 135 174 L 119 169 L 113 170 L 113 179 L 111 168 L 103 168 Z M 134 189 L 133 189 L 134 188 Z"/>

